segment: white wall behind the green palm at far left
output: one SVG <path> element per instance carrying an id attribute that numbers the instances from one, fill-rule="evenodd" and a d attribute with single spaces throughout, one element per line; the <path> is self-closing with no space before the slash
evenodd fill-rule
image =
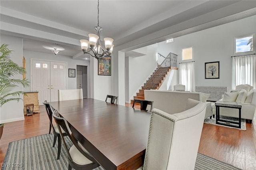
<path id="1" fill-rule="evenodd" d="M 14 63 L 17 63 L 22 67 L 23 39 L 2 34 L 0 36 L 0 45 L 3 43 L 8 44 L 8 49 L 13 50 L 10 54 L 10 58 Z M 17 75 L 15 78 L 22 79 L 22 75 Z M 23 87 L 16 87 L 15 91 L 23 91 Z M 23 96 L 20 98 L 23 99 Z M 0 107 L 0 124 L 20 120 L 24 120 L 23 101 L 19 101 L 18 103 L 16 101 L 10 101 Z"/>

